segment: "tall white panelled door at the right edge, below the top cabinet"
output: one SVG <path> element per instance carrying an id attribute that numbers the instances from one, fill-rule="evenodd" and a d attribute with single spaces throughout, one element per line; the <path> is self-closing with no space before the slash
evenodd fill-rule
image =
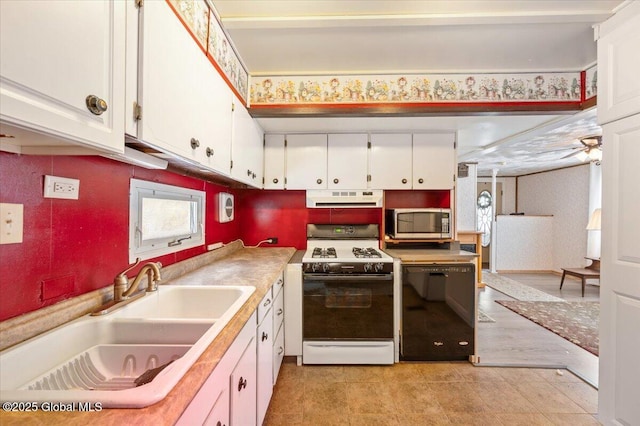
<path id="1" fill-rule="evenodd" d="M 640 424 L 640 114 L 603 127 L 599 407 L 603 424 Z"/>

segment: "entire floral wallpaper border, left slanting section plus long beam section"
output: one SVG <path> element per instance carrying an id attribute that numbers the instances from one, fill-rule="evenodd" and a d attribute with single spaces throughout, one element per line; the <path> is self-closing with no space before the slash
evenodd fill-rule
<path id="1" fill-rule="evenodd" d="M 166 0 L 248 106 L 581 102 L 597 94 L 582 72 L 250 76 L 206 0 Z M 248 101 L 247 101 L 248 100 Z"/>

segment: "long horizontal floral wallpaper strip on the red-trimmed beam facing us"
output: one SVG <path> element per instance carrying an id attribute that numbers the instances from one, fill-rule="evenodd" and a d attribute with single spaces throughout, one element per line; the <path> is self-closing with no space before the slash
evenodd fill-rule
<path id="1" fill-rule="evenodd" d="M 581 73 L 251 77 L 251 105 L 579 102 Z"/>

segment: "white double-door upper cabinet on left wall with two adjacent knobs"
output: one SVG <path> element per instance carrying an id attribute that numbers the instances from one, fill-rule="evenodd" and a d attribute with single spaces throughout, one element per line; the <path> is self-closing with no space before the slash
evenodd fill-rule
<path id="1" fill-rule="evenodd" d="M 138 138 L 228 175 L 231 90 L 166 2 L 141 13 Z"/>

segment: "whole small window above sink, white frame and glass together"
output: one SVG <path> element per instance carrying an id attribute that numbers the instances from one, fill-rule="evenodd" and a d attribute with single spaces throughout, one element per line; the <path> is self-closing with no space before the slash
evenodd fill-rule
<path id="1" fill-rule="evenodd" d="M 205 193 L 131 179 L 129 262 L 204 244 Z"/>

